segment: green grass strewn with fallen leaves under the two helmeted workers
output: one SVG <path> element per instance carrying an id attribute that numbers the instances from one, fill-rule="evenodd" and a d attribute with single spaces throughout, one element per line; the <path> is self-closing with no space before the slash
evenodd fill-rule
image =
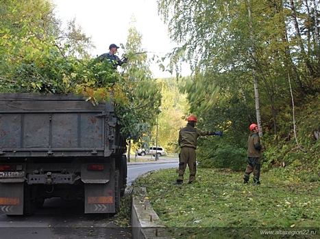
<path id="1" fill-rule="evenodd" d="M 188 174 L 187 169 L 185 183 Z M 193 184 L 173 185 L 176 178 L 175 169 L 162 169 L 134 184 L 147 188 L 173 238 L 320 238 L 320 182 L 306 180 L 304 173 L 262 172 L 260 186 L 252 178 L 243 184 L 242 172 L 221 169 L 197 169 Z M 262 236 L 263 230 L 282 235 Z M 284 236 L 289 230 L 299 235 Z"/>

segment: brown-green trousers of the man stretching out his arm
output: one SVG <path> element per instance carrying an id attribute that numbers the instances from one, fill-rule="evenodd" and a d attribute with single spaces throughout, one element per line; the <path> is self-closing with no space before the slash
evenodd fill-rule
<path id="1" fill-rule="evenodd" d="M 184 180 L 184 171 L 188 165 L 190 176 L 189 182 L 195 181 L 195 174 L 197 173 L 197 163 L 195 160 L 195 148 L 194 147 L 182 147 L 179 154 L 179 178 L 177 181 Z"/>

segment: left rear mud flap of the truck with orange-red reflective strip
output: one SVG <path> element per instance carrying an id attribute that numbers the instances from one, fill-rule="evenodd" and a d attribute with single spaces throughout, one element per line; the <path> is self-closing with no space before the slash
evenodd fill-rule
<path id="1" fill-rule="evenodd" d="M 23 182 L 0 183 L 0 211 L 7 215 L 23 214 Z"/>

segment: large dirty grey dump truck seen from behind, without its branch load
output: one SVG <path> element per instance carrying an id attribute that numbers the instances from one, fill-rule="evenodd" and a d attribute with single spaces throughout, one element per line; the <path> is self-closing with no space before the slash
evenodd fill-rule
<path id="1" fill-rule="evenodd" d="M 127 180 L 126 139 L 112 102 L 72 94 L 0 94 L 0 210 L 31 215 L 45 199 L 115 214 Z"/>

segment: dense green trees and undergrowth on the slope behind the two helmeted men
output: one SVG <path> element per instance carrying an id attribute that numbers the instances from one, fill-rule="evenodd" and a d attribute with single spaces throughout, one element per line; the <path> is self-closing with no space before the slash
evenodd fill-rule
<path id="1" fill-rule="evenodd" d="M 319 158 L 319 6 L 317 0 L 158 0 L 171 40 L 180 44 L 169 54 L 171 67 L 188 61 L 193 69 L 180 79 L 190 113 L 199 128 L 224 132 L 223 143 L 199 142 L 200 159 L 245 160 L 251 123 L 260 126 L 271 165 Z"/>

